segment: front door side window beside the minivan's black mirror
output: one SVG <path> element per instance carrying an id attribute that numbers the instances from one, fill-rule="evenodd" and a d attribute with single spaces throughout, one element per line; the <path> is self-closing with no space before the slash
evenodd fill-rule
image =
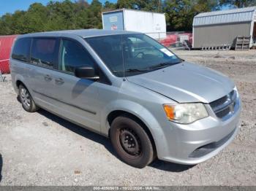
<path id="1" fill-rule="evenodd" d="M 59 70 L 74 72 L 78 66 L 93 66 L 94 61 L 82 45 L 72 40 L 63 39 L 59 58 Z"/>

